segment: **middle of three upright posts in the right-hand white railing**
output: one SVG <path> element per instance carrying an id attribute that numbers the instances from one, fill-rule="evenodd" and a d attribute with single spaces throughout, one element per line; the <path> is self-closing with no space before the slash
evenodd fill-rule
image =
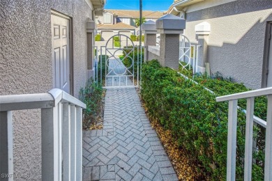
<path id="1" fill-rule="evenodd" d="M 253 113 L 254 97 L 250 97 L 246 104 L 244 180 L 251 180 L 252 174 Z"/>

